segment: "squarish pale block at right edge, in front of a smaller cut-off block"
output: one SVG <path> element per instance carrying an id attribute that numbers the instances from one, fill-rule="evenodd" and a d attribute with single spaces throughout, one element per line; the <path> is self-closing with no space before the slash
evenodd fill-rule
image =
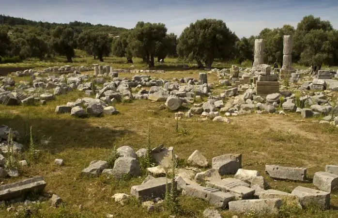
<path id="1" fill-rule="evenodd" d="M 319 190 L 331 192 L 338 187 L 338 176 L 329 172 L 316 172 L 313 176 L 313 185 Z"/>

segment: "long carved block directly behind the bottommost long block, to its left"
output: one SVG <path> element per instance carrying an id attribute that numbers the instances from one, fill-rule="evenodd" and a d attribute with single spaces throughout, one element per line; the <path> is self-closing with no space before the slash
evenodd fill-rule
<path id="1" fill-rule="evenodd" d="M 235 199 L 235 196 L 230 193 L 222 192 L 216 188 L 193 184 L 187 185 L 185 189 L 183 189 L 182 194 L 203 199 L 214 205 L 216 208 L 225 208 L 230 201 Z"/>

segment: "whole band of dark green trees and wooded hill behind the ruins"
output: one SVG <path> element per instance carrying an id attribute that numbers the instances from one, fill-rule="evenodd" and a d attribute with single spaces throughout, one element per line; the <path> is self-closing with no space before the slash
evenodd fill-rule
<path id="1" fill-rule="evenodd" d="M 255 39 L 265 42 L 264 62 L 282 64 L 283 35 L 293 36 L 292 61 L 320 68 L 338 65 L 338 30 L 331 23 L 312 15 L 294 28 L 263 29 L 257 36 L 239 39 L 226 23 L 202 19 L 191 23 L 179 37 L 169 33 L 163 23 L 140 21 L 127 30 L 108 25 L 70 22 L 56 24 L 4 16 L 0 26 L 0 57 L 45 58 L 62 55 L 72 62 L 74 49 L 81 49 L 101 62 L 104 57 L 125 57 L 132 63 L 141 58 L 149 67 L 166 57 L 197 62 L 211 68 L 215 60 L 234 63 L 253 62 Z"/>

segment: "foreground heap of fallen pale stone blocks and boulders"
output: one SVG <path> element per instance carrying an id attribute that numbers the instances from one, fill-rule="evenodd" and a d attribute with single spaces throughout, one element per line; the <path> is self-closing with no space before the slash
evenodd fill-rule
<path id="1" fill-rule="evenodd" d="M 120 157 L 116 159 L 113 169 L 108 169 L 106 161 L 92 161 L 81 172 L 82 175 L 99 176 L 102 173 L 117 178 L 123 174 L 140 175 L 138 158 L 145 155 L 146 149 L 135 152 L 129 146 L 122 146 L 117 151 Z M 151 154 L 157 166 L 147 169 L 149 175 L 140 185 L 131 187 L 130 195 L 115 194 L 113 198 L 116 202 L 123 204 L 134 196 L 143 202 L 142 205 L 148 211 L 156 210 L 163 203 L 166 185 L 167 183 L 169 187 L 172 185 L 165 177 L 169 169 L 168 160 L 179 159 L 179 156 L 174 155 L 172 147 L 165 148 L 163 145 L 154 148 Z M 203 199 L 216 209 L 229 208 L 235 213 L 250 213 L 254 210 L 277 214 L 284 203 L 300 209 L 305 209 L 309 205 L 328 209 L 330 194 L 338 188 L 336 165 L 327 165 L 325 171 L 314 174 L 313 186 L 319 190 L 298 186 L 288 193 L 271 189 L 259 171 L 242 169 L 241 154 L 216 156 L 212 158 L 211 169 L 207 171 L 199 169 L 208 167 L 209 162 L 198 150 L 189 156 L 187 162 L 190 167 L 175 170 L 178 190 L 183 195 Z M 307 168 L 266 165 L 265 173 L 277 180 L 308 183 Z M 222 179 L 223 175 L 234 176 Z"/>

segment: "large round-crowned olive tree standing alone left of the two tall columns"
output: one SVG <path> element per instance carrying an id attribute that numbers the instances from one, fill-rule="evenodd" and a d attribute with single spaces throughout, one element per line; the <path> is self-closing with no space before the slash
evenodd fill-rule
<path id="1" fill-rule="evenodd" d="M 211 68 L 215 59 L 230 60 L 234 54 L 237 36 L 223 20 L 202 19 L 185 28 L 177 44 L 181 57 L 205 62 Z"/>

